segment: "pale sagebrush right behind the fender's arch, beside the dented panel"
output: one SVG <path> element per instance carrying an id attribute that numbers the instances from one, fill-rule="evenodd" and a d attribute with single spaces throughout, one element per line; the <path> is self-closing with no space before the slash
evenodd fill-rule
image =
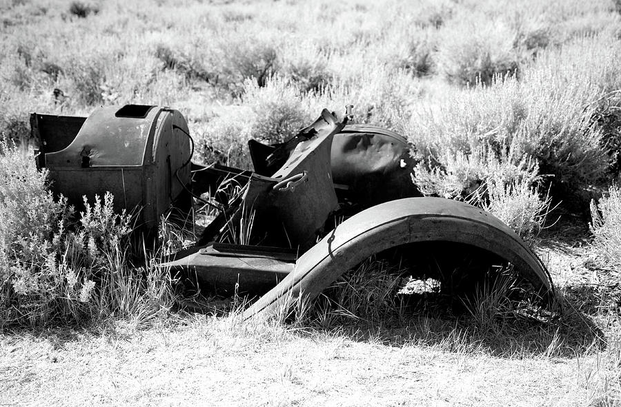
<path id="1" fill-rule="evenodd" d="M 414 181 L 428 195 L 466 198 L 493 174 L 506 180 L 537 175 L 536 162 L 516 152 L 524 110 L 513 77 L 453 91 L 415 109 L 400 129 L 415 145 Z"/>

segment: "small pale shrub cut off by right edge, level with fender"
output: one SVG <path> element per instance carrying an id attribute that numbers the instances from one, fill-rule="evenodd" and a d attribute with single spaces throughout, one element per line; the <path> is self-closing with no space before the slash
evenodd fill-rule
<path id="1" fill-rule="evenodd" d="M 621 269 L 621 189 L 609 187 L 607 196 L 591 201 L 593 250 L 602 267 Z"/>

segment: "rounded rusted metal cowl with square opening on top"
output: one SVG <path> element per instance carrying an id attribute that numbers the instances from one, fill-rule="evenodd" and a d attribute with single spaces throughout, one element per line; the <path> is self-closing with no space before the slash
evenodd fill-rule
<path id="1" fill-rule="evenodd" d="M 54 140 L 59 134 L 50 132 L 61 128 L 38 131 L 44 140 Z M 52 190 L 73 205 L 81 207 L 84 195 L 92 201 L 110 191 L 115 210 L 139 211 L 138 225 L 152 229 L 175 200 L 186 197 L 188 202 L 176 203 L 189 206 L 190 197 L 182 194 L 190 185 L 189 159 L 188 127 L 179 112 L 126 105 L 96 109 L 66 147 L 48 150 L 41 163 L 49 170 Z"/>

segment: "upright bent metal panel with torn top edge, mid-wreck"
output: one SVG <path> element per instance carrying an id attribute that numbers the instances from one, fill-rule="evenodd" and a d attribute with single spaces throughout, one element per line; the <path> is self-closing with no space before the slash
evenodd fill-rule
<path id="1" fill-rule="evenodd" d="M 333 136 L 340 129 L 341 123 L 324 109 L 315 123 L 302 129 L 300 134 L 305 136 L 295 147 L 289 146 L 293 149 L 286 152 L 288 158 L 282 167 L 271 176 L 250 176 L 242 205 L 230 216 L 230 222 L 239 224 L 243 215 L 254 213 L 251 234 L 255 244 L 300 251 L 312 247 L 328 216 L 338 207 L 330 152 Z"/>

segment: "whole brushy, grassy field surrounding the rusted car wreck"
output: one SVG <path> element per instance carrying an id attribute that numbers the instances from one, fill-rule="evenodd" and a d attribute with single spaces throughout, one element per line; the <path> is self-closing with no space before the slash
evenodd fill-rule
<path id="1" fill-rule="evenodd" d="M 0 405 L 620 406 L 620 14 L 618 0 L 0 0 Z M 373 267 L 339 282 L 368 294 L 355 312 L 179 310 L 161 253 L 126 249 L 128 218 L 105 201 L 72 218 L 34 169 L 30 112 L 125 103 L 178 109 L 197 163 L 243 168 L 249 138 L 351 103 L 408 138 L 424 194 L 531 242 L 563 311 L 378 313 L 368 287 L 395 280 Z"/>

